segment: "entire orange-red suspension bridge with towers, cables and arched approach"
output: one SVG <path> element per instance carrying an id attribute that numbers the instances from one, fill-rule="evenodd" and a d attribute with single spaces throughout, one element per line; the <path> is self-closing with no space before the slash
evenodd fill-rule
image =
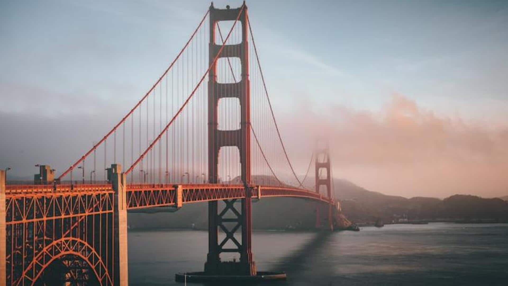
<path id="1" fill-rule="evenodd" d="M 251 251 L 252 199 L 315 201 L 316 227 L 330 230 L 340 213 L 328 148 L 317 145 L 304 176 L 290 161 L 245 3 L 212 3 L 167 70 L 97 144 L 59 176 L 39 168 L 29 185 L 6 184 L 0 171 L 0 283 L 126 285 L 127 212 L 199 202 L 208 204 L 201 274 L 262 277 Z M 223 261 L 228 253 L 239 260 Z"/>

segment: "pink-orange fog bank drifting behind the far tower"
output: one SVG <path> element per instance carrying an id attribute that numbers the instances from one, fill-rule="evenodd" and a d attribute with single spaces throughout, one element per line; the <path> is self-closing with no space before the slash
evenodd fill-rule
<path id="1" fill-rule="evenodd" d="M 312 150 L 312 138 L 326 135 L 335 176 L 374 191 L 407 197 L 508 193 L 508 124 L 437 115 L 397 94 L 380 112 L 341 105 L 312 112 L 307 107 L 302 103 L 301 110 L 294 110 L 297 117 L 281 117 L 299 169 L 308 160 L 298 157 L 301 150 Z"/>

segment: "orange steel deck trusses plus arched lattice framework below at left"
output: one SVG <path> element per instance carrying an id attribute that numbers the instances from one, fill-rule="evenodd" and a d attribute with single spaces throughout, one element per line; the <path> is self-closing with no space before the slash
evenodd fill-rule
<path id="1" fill-rule="evenodd" d="M 245 197 L 243 185 L 180 186 L 182 204 Z M 177 203 L 178 185 L 129 184 L 126 188 L 128 209 Z M 252 198 L 299 197 L 333 204 L 332 199 L 304 189 L 257 185 L 248 188 Z M 113 199 L 114 190 L 108 184 L 7 185 L 7 284 L 33 284 L 51 261 L 73 255 L 87 263 L 90 274 L 101 284 L 114 284 Z M 84 253 L 83 249 L 89 250 Z"/>

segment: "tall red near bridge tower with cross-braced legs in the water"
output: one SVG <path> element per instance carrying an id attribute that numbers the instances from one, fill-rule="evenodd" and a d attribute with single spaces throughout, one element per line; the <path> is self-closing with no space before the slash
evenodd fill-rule
<path id="1" fill-rule="evenodd" d="M 242 10 L 243 9 L 243 10 Z M 242 41 L 238 44 L 225 45 L 219 58 L 239 58 L 241 64 L 241 78 L 233 83 L 217 82 L 216 61 L 214 61 L 221 45 L 215 43 L 216 24 L 219 21 L 235 21 L 238 14 L 238 24 L 241 24 Z M 216 9 L 210 6 L 210 43 L 209 43 L 209 72 L 208 81 L 208 172 L 209 183 L 218 182 L 218 158 L 222 147 L 237 147 L 240 153 L 241 180 L 245 186 L 245 198 L 241 199 L 241 210 L 235 209 L 236 199 L 225 200 L 226 206 L 218 210 L 217 202 L 208 203 L 208 255 L 205 263 L 207 274 L 236 274 L 256 275 L 256 265 L 252 261 L 251 252 L 251 191 L 250 185 L 250 84 L 248 78 L 248 24 L 247 7 L 245 3 L 237 9 Z M 232 93 L 231 91 L 237 91 Z M 220 99 L 238 98 L 240 102 L 240 129 L 219 130 L 217 107 Z M 235 218 L 226 218 L 231 211 Z M 231 213 L 230 212 L 230 213 Z M 232 224 L 235 224 L 233 227 Z M 226 238 L 218 241 L 218 229 L 224 231 Z M 234 234 L 241 228 L 241 242 Z M 225 248 L 228 242 L 235 247 Z M 240 253 L 239 262 L 223 263 L 220 254 L 224 252 Z"/>

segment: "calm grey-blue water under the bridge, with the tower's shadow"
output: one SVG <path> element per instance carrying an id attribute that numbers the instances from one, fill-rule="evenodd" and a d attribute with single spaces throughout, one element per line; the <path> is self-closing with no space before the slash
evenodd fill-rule
<path id="1" fill-rule="evenodd" d="M 176 272 L 202 271 L 207 232 L 129 232 L 132 285 L 182 285 Z M 272 285 L 508 285 L 508 224 L 430 223 L 360 232 L 252 234 L 258 270 L 281 270 Z M 201 284 L 192 284 L 201 285 Z"/>

